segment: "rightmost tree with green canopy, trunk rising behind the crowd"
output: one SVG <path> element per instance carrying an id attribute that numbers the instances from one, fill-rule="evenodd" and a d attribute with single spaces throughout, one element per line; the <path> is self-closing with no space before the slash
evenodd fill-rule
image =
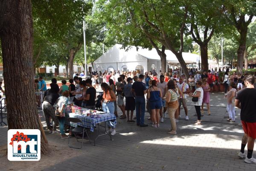
<path id="1" fill-rule="evenodd" d="M 239 47 L 237 50 L 237 72 L 243 72 L 243 60 L 246 50 L 248 26 L 256 15 L 255 0 L 226 0 L 224 1 L 224 17 L 239 32 Z"/>

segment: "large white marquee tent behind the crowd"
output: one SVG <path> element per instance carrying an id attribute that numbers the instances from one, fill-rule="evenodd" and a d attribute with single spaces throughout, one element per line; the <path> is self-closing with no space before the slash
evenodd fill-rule
<path id="1" fill-rule="evenodd" d="M 160 56 L 157 54 L 156 49 L 148 50 L 139 47 L 137 50 L 135 46 L 130 46 L 128 51 L 121 49 L 121 44 L 116 44 L 102 56 L 100 56 L 93 63 L 93 69 L 104 72 L 105 70 L 125 70 L 133 71 L 140 70 L 141 73 L 150 70 L 161 70 Z M 171 68 L 173 64 L 179 64 L 176 56 L 170 51 L 166 50 L 166 60 Z M 187 64 L 198 63 L 199 56 L 192 53 L 183 52 L 183 59 Z"/>

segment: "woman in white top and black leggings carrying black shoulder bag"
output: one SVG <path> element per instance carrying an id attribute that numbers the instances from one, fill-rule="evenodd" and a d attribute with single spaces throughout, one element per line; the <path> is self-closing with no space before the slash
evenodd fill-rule
<path id="1" fill-rule="evenodd" d="M 198 101 L 193 101 L 195 106 L 195 111 L 198 116 L 198 120 L 195 122 L 195 125 L 201 125 L 201 111 L 200 106 L 203 102 L 204 90 L 202 89 L 202 81 L 197 81 L 196 86 L 198 87 L 194 93 L 189 93 L 191 97 L 198 97 Z"/>

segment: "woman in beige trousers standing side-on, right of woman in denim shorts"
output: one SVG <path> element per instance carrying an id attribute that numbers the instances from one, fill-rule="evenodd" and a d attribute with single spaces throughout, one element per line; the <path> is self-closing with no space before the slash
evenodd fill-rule
<path id="1" fill-rule="evenodd" d="M 167 83 L 168 91 L 164 100 L 167 103 L 167 112 L 171 120 L 172 129 L 169 129 L 168 134 L 176 134 L 175 111 L 179 107 L 178 94 L 176 92 L 175 81 L 169 80 Z"/>

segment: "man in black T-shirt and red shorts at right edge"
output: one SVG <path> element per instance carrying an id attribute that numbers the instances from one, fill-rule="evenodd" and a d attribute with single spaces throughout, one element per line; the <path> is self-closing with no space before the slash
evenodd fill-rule
<path id="1" fill-rule="evenodd" d="M 244 162 L 256 164 L 256 159 L 252 157 L 253 146 L 256 139 L 256 89 L 254 89 L 254 77 L 249 75 L 245 78 L 246 88 L 240 90 L 236 95 L 236 107 L 241 109 L 240 117 L 244 129 L 241 150 L 239 157 L 245 158 Z M 244 148 L 247 144 L 247 156 Z"/>

